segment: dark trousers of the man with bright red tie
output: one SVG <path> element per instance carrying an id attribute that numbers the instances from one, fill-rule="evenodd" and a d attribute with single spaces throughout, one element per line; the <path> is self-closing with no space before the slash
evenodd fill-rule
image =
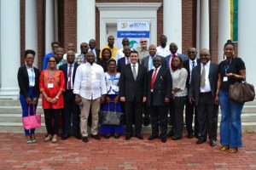
<path id="1" fill-rule="evenodd" d="M 148 107 L 151 117 L 152 135 L 159 135 L 160 138 L 165 139 L 167 136 L 167 123 L 168 123 L 168 107 L 165 105 L 151 105 Z"/>

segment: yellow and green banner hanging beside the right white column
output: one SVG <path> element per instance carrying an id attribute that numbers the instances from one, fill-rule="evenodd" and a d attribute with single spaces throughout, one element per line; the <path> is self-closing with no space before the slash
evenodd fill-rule
<path id="1" fill-rule="evenodd" d="M 238 27 L 238 0 L 230 0 L 230 37 L 232 42 L 237 42 Z"/>

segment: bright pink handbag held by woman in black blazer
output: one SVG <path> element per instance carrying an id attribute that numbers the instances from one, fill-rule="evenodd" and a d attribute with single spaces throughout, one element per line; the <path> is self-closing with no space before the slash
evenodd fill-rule
<path id="1" fill-rule="evenodd" d="M 36 114 L 35 111 L 35 106 L 33 105 L 33 113 L 34 115 L 30 115 L 30 106 L 28 106 L 28 111 L 27 111 L 27 116 L 22 117 L 22 122 L 23 122 L 23 127 L 26 130 L 36 128 L 36 127 L 41 127 L 41 115 Z"/>

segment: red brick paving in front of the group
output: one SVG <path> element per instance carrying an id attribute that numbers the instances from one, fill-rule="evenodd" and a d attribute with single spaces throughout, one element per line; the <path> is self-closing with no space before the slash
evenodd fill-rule
<path id="1" fill-rule="evenodd" d="M 256 133 L 243 135 L 244 147 L 236 154 L 219 151 L 220 144 L 195 144 L 183 138 L 166 144 L 159 139 L 89 139 L 73 137 L 57 144 L 26 144 L 21 133 L 0 133 L 0 169 L 256 169 Z"/>

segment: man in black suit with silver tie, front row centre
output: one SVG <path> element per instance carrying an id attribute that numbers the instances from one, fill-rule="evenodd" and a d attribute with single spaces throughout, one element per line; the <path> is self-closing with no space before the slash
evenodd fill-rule
<path id="1" fill-rule="evenodd" d="M 142 130 L 142 106 L 146 101 L 146 74 L 143 65 L 139 65 L 137 51 L 131 51 L 129 57 L 131 64 L 122 68 L 119 79 L 119 96 L 125 102 L 125 139 L 131 139 L 132 116 L 135 116 L 135 136 L 143 139 Z M 134 113 L 134 114 L 133 114 Z"/>

